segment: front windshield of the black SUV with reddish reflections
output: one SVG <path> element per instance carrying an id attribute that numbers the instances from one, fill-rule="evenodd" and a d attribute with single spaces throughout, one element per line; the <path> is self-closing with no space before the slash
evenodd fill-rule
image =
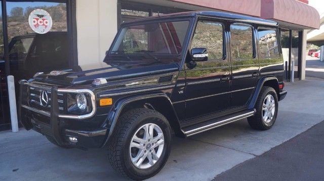
<path id="1" fill-rule="evenodd" d="M 179 54 L 189 21 L 151 23 L 121 30 L 111 53 Z"/>

